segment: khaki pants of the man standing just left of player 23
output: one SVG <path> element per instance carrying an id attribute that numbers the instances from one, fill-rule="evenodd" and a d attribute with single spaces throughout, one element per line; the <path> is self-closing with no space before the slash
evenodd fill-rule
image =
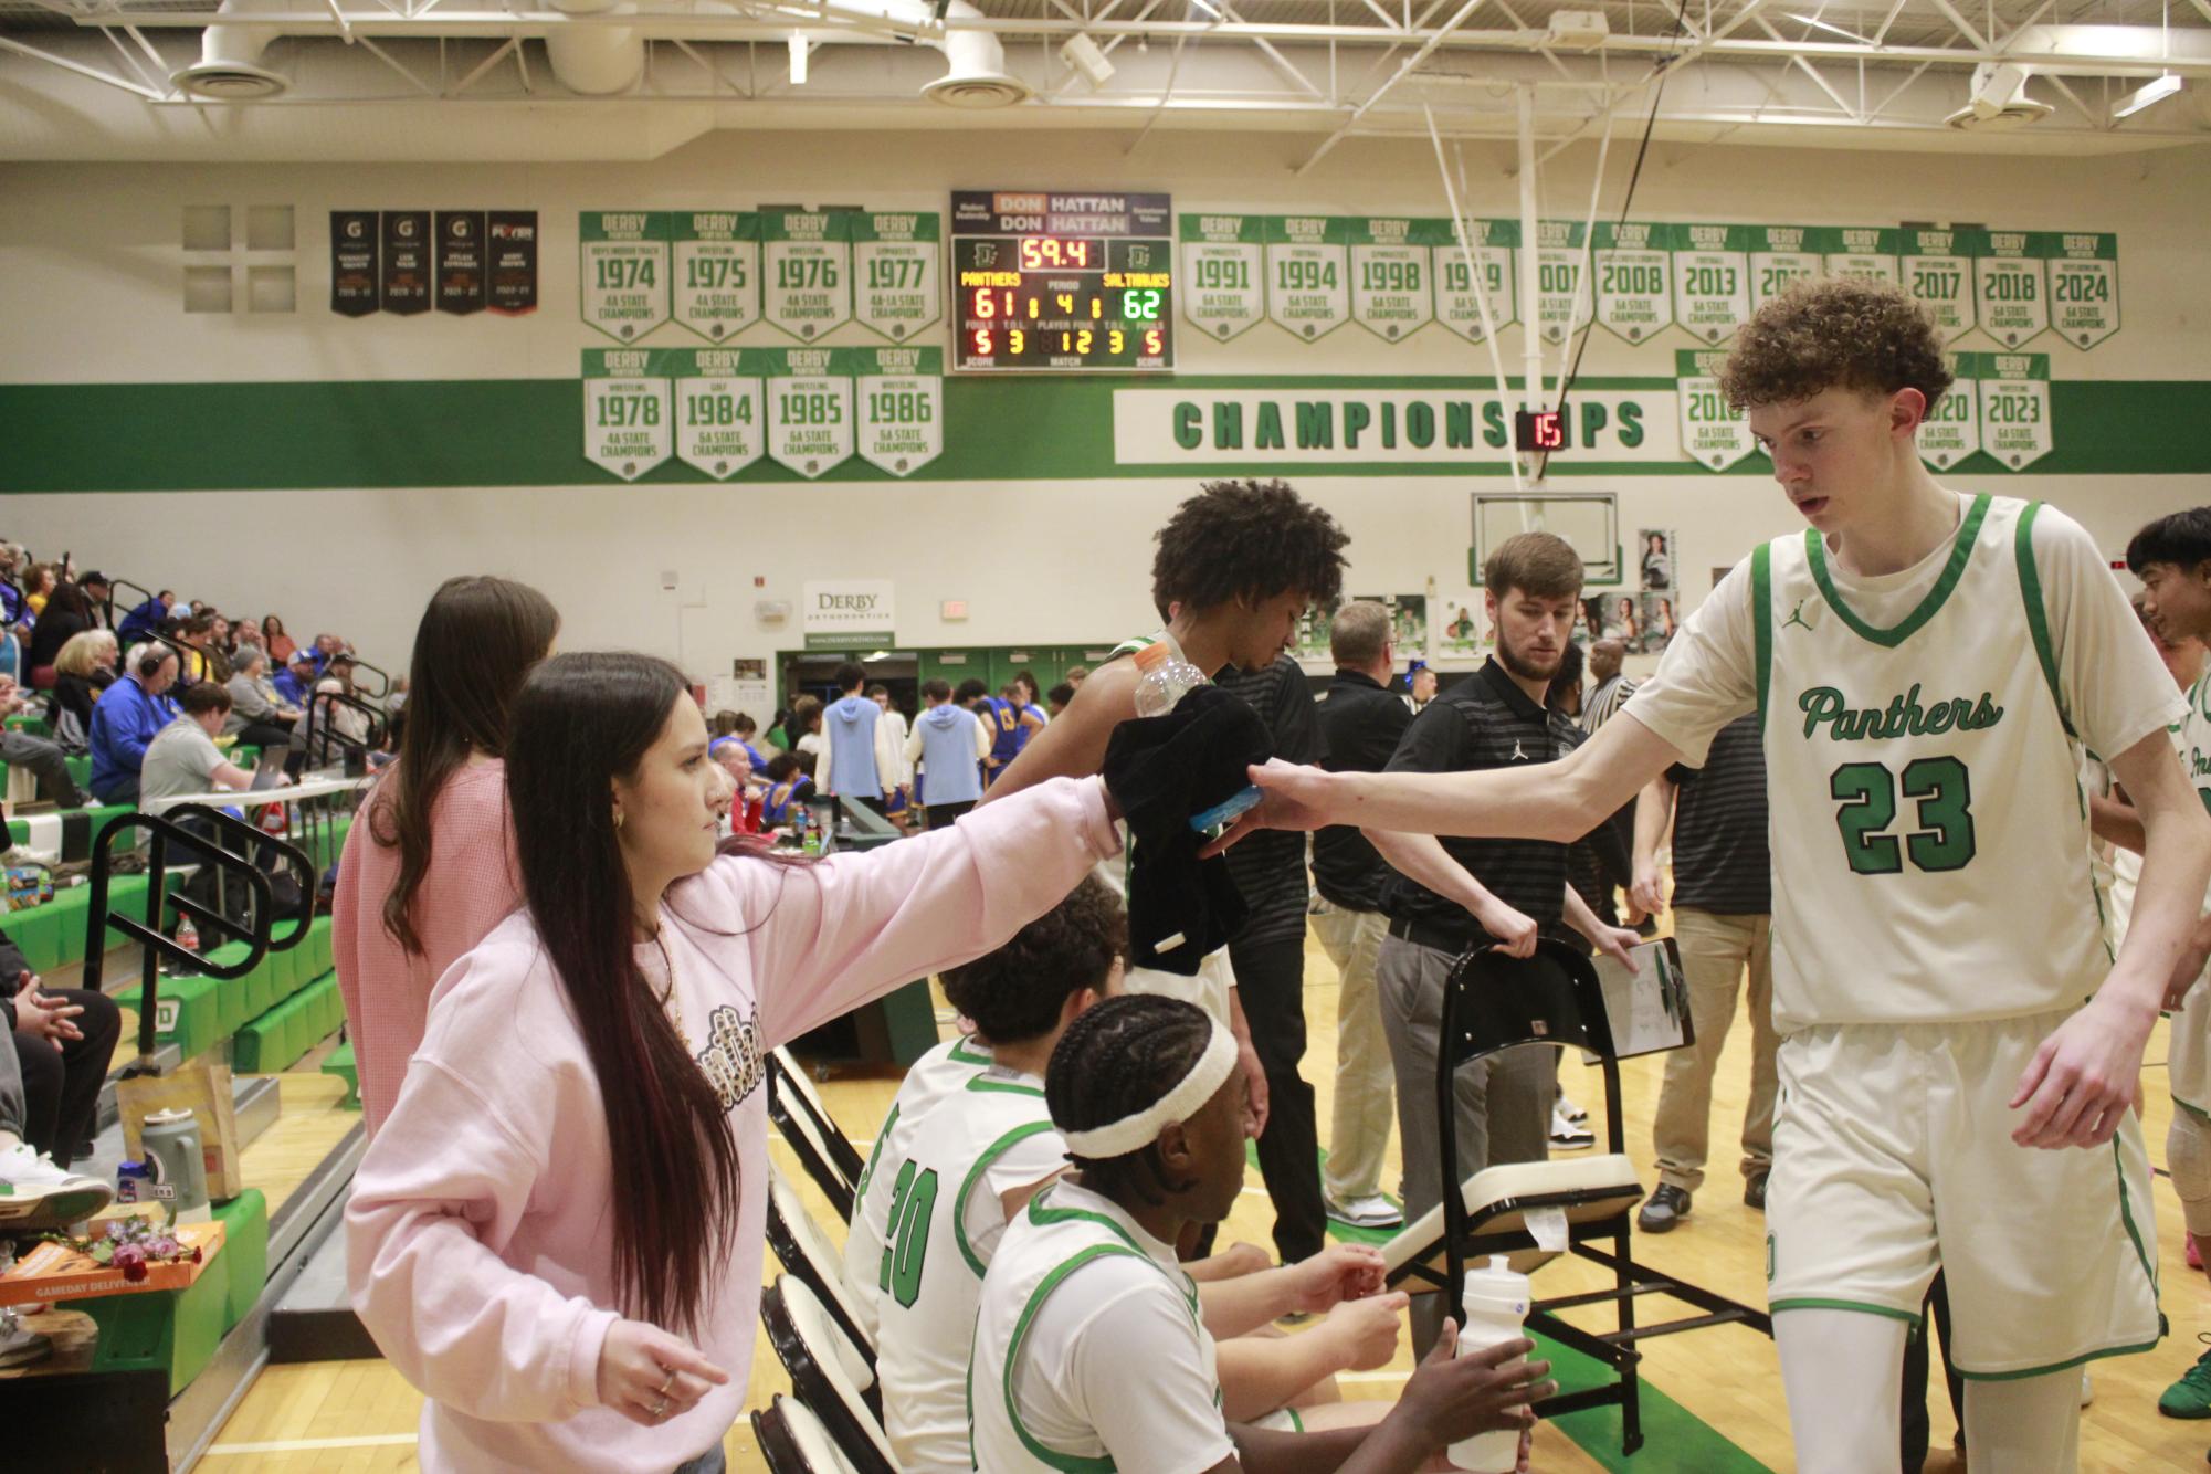
<path id="1" fill-rule="evenodd" d="M 1689 983 L 1696 1043 L 1667 1054 L 1652 1145 L 1658 1180 L 1694 1193 L 1705 1185 L 1711 1140 L 1711 1072 L 1736 1021 L 1744 968 L 1751 975 L 1751 1098 L 1742 1112 L 1742 1176 L 1773 1167 L 1773 917 L 1683 908 L 1674 913 L 1674 944 Z"/>

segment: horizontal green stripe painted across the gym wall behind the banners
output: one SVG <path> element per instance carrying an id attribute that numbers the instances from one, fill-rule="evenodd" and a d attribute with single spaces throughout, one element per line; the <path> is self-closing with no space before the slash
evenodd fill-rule
<path id="1" fill-rule="evenodd" d="M 1660 378 L 1592 378 L 1590 389 L 1672 389 Z M 1112 464 L 1114 389 L 1439 389 L 1495 393 L 1464 378 L 951 378 L 944 455 L 926 480 L 1004 482 L 1072 477 L 1278 475 L 1282 462 Z M 2211 473 L 2211 380 L 2058 380 L 2050 385 L 2056 449 L 2030 475 Z M 577 380 L 369 380 L 310 385 L 0 385 L 0 493 L 51 491 L 305 491 L 323 486 L 608 486 L 584 460 Z M 1689 475 L 1696 462 L 1554 462 L 1559 475 Z M 1952 468 L 2003 475 L 1985 453 Z M 1501 477 L 1499 460 L 1457 464 L 1338 462 L 1300 475 Z M 1753 457 L 1733 475 L 1764 480 Z M 677 460 L 643 482 L 705 482 Z M 741 484 L 803 477 L 758 462 Z M 853 457 L 838 482 L 884 482 Z"/>

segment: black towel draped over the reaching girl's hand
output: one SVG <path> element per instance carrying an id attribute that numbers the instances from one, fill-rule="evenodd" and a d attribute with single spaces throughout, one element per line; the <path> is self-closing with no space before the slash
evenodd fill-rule
<path id="1" fill-rule="evenodd" d="M 1207 952 L 1245 922 L 1245 899 L 1225 860 L 1198 860 L 1194 813 L 1240 793 L 1245 771 L 1271 751 L 1258 712 L 1216 685 L 1183 696 L 1167 716 L 1114 727 L 1106 787 L 1130 831 L 1130 966 L 1194 977 Z"/>

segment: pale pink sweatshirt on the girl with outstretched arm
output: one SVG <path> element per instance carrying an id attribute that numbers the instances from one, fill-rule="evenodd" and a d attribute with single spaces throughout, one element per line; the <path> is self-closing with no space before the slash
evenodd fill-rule
<path id="1" fill-rule="evenodd" d="M 880 851 L 809 868 L 723 857 L 670 891 L 661 939 L 683 1028 L 741 1096 L 743 1202 L 727 1284 L 694 1337 L 730 1386 L 661 1428 L 599 1405 L 599 1346 L 619 1319 L 606 1109 L 531 913 L 453 964 L 345 1211 L 354 1308 L 431 1399 L 422 1467 L 668 1474 L 721 1443 L 761 1304 L 767 1052 L 1004 944 L 1117 851 L 1099 782 L 1059 778 Z M 661 983 L 659 948 L 637 957 Z"/>

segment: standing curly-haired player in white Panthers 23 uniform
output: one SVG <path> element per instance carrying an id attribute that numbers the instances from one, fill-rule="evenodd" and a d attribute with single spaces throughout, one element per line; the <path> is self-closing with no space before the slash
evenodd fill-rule
<path id="1" fill-rule="evenodd" d="M 1634 720 L 1526 771 L 1254 769 L 1271 791 L 1245 822 L 1568 840 L 1760 712 L 1767 1268 L 1798 1467 L 1897 1467 L 1904 1335 L 1941 1266 L 1974 1465 L 2069 1472 L 2078 1366 L 2162 1333 L 2131 1103 L 2211 877 L 2165 731 L 2180 696 L 2069 517 L 1928 475 L 1915 435 L 1950 373 L 1908 296 L 1800 283 L 1742 329 L 1722 387 L 1809 528 L 1720 581 Z M 2083 745 L 2147 840 L 2116 959 Z"/>

